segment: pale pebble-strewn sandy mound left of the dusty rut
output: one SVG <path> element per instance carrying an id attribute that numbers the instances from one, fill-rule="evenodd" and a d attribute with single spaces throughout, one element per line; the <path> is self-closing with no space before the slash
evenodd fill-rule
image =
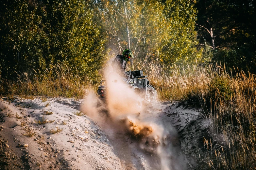
<path id="1" fill-rule="evenodd" d="M 10 104 L 0 101 L 0 136 L 8 141 L 4 145 L 9 145 L 1 151 L 1 159 L 7 157 L 11 163 L 1 168 L 11 170 L 16 163 L 19 169 L 31 170 L 121 169 L 104 131 L 90 118 L 74 114 L 77 110 L 73 107 L 79 103 L 64 98 L 49 98 L 46 102 L 16 99 Z M 39 124 L 43 118 L 45 123 Z M 51 134 L 57 127 L 61 131 Z M 12 161 L 13 153 L 16 162 Z"/>

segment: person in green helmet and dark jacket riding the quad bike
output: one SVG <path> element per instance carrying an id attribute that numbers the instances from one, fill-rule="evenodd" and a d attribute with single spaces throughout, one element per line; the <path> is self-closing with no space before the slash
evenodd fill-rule
<path id="1" fill-rule="evenodd" d="M 133 55 L 130 49 L 125 49 L 122 55 L 117 55 L 111 64 L 114 72 L 118 73 L 121 77 L 125 77 L 126 64 L 131 58 L 133 58 Z"/>

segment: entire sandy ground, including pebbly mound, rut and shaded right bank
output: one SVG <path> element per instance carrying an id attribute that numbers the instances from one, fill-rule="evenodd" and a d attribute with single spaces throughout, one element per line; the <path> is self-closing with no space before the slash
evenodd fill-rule
<path id="1" fill-rule="evenodd" d="M 178 103 L 148 106 L 143 120 L 161 124 L 170 133 L 160 155 L 141 149 L 141 141 L 118 123 L 75 115 L 81 104 L 82 100 L 67 98 L 0 100 L 0 170 L 165 170 L 163 161 L 169 162 L 169 170 L 197 169 L 208 125 L 200 110 Z M 47 111 L 53 114 L 46 115 Z M 45 124 L 36 122 L 42 118 Z M 50 133 L 57 128 L 62 131 Z"/>

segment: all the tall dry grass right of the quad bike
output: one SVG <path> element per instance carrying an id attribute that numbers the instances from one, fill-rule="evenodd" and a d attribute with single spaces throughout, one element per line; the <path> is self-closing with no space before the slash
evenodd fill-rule
<path id="1" fill-rule="evenodd" d="M 218 64 L 173 66 L 170 73 L 157 64 L 142 66 L 160 101 L 200 104 L 210 119 L 202 138 L 202 169 L 256 169 L 256 75 Z"/>

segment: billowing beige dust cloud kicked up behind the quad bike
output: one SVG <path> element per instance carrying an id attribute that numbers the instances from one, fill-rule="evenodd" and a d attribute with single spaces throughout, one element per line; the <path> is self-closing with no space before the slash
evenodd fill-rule
<path id="1" fill-rule="evenodd" d="M 177 161 L 180 158 L 176 156 L 177 151 L 172 145 L 172 135 L 176 135 L 176 132 L 171 125 L 166 127 L 161 121 L 148 116 L 149 107 L 153 109 L 152 105 L 157 102 L 146 103 L 144 96 L 129 88 L 123 78 L 113 72 L 111 66 L 105 70 L 105 80 L 105 102 L 99 100 L 95 92 L 91 92 L 84 99 L 81 111 L 100 125 L 108 123 L 109 127 L 113 127 L 105 131 L 113 131 L 118 127 L 128 133 L 137 142 L 139 149 L 158 157 L 158 169 L 186 169 L 183 163 Z"/>

